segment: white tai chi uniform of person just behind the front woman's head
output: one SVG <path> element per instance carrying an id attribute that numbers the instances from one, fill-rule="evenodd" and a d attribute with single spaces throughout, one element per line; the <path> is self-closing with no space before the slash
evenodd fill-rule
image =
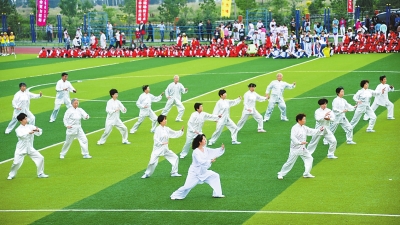
<path id="1" fill-rule="evenodd" d="M 182 152 L 180 154 L 181 158 L 185 158 L 185 156 L 189 153 L 190 148 L 192 147 L 193 139 L 203 133 L 203 124 L 204 121 L 217 121 L 219 117 L 217 115 L 211 115 L 206 112 L 193 112 L 190 115 L 187 131 L 186 131 L 186 142 L 182 148 Z"/>

